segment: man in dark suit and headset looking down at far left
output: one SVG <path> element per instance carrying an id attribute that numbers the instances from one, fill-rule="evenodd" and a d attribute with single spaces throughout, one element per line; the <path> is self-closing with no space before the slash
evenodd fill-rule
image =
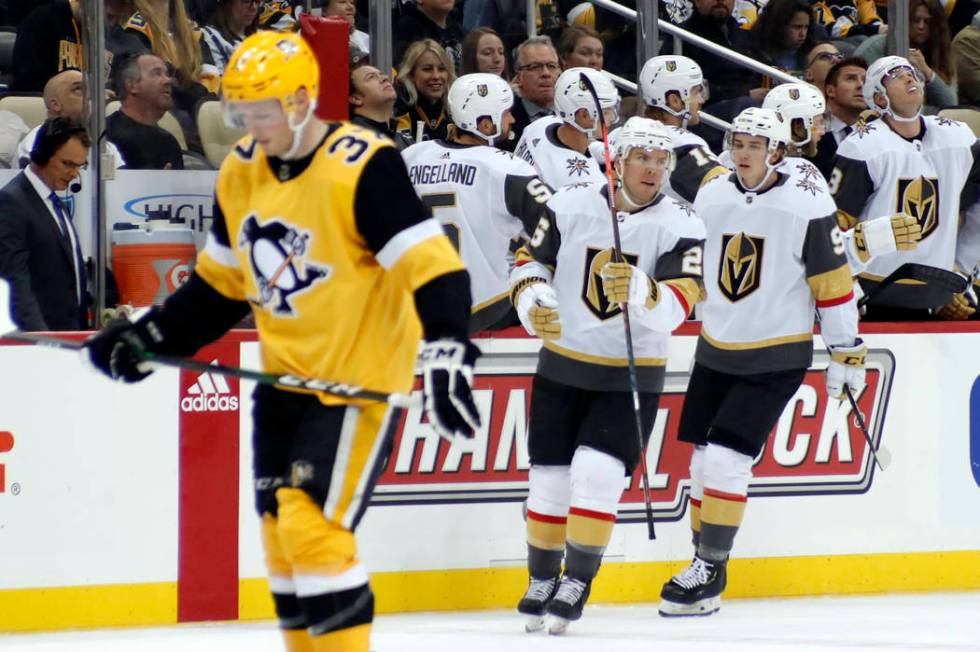
<path id="1" fill-rule="evenodd" d="M 0 190 L 0 277 L 10 282 L 20 330 L 87 326 L 85 266 L 65 193 L 88 163 L 90 146 L 74 120 L 48 120 L 31 164 Z"/>

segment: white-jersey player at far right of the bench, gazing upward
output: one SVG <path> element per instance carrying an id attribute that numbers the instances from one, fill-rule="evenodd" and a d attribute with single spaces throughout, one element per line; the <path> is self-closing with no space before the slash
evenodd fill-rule
<path id="1" fill-rule="evenodd" d="M 921 115 L 924 86 L 902 57 L 871 64 L 863 93 L 881 119 L 855 125 L 837 149 L 828 180 L 841 228 L 857 229 L 871 218 L 892 214 L 909 215 L 919 224 L 921 240 L 914 250 L 900 249 L 867 262 L 859 276 L 866 292 L 906 262 L 952 270 L 960 211 L 975 201 L 980 181 L 977 139 L 961 122 Z M 961 194 L 967 198 L 963 203 Z M 853 240 L 864 260 L 876 235 L 862 228 L 864 233 L 855 233 Z M 889 305 L 872 302 L 869 317 L 921 318 L 926 309 L 938 307 L 929 305 L 933 294 L 921 286 L 896 284 L 889 292 Z"/>

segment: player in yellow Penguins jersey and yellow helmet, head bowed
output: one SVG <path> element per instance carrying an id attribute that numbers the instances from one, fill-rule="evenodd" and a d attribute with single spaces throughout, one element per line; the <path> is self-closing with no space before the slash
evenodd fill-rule
<path id="1" fill-rule="evenodd" d="M 249 135 L 218 173 L 194 273 L 162 307 L 89 340 L 90 357 L 137 381 L 143 351 L 189 355 L 251 310 L 265 371 L 407 392 L 424 336 L 429 422 L 468 436 L 469 277 L 391 141 L 313 117 L 318 81 L 299 35 L 259 32 L 235 51 L 224 110 Z M 256 508 L 289 652 L 368 651 L 374 597 L 353 531 L 396 417 L 381 403 L 255 392 Z"/>

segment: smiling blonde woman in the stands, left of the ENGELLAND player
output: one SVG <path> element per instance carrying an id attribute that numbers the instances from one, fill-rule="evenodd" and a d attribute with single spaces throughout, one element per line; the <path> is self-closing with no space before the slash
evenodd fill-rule
<path id="1" fill-rule="evenodd" d="M 446 94 L 455 79 L 453 62 L 438 43 L 412 43 L 398 66 L 397 130 L 414 142 L 444 140 L 449 127 Z"/>

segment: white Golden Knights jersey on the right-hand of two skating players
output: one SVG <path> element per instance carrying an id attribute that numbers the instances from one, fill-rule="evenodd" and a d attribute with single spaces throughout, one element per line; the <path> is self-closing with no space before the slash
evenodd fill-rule
<path id="1" fill-rule="evenodd" d="M 814 168 L 816 171 L 816 168 Z M 728 374 L 801 369 L 813 357 L 813 313 L 832 346 L 857 337 L 857 306 L 835 206 L 818 183 L 779 173 L 762 193 L 736 175 L 698 193 L 707 299 L 695 359 Z"/>

